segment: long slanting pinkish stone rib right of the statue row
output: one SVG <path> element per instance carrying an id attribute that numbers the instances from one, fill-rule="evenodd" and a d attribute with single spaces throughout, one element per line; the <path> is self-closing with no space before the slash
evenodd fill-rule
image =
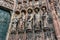
<path id="1" fill-rule="evenodd" d="M 54 24 L 56 36 L 57 36 L 57 39 L 60 40 L 60 23 L 59 23 L 58 16 L 56 15 L 53 0 L 51 0 L 50 7 L 51 7 L 51 13 L 53 17 L 53 24 Z"/>

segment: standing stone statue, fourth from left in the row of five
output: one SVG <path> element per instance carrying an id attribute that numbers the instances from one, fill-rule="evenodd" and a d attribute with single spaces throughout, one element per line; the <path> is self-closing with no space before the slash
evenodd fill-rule
<path id="1" fill-rule="evenodd" d="M 35 18 L 34 18 L 34 20 L 35 20 L 35 27 L 38 27 L 38 28 L 40 28 L 40 13 L 39 13 L 39 8 L 38 7 L 36 7 L 35 9 L 34 9 L 34 11 L 35 11 Z"/>

